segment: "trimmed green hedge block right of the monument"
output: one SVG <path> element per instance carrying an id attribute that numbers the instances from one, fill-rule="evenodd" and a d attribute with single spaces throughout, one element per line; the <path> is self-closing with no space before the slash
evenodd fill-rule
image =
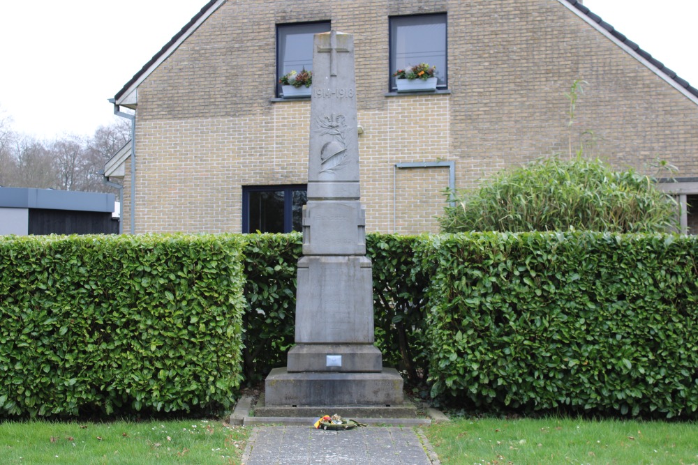
<path id="1" fill-rule="evenodd" d="M 433 396 L 695 418 L 697 238 L 482 233 L 418 249 Z"/>

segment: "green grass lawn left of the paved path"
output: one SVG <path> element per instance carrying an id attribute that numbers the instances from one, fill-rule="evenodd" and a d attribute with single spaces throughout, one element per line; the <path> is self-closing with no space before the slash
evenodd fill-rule
<path id="1" fill-rule="evenodd" d="M 0 422 L 0 464 L 239 464 L 249 432 L 217 420 Z"/>

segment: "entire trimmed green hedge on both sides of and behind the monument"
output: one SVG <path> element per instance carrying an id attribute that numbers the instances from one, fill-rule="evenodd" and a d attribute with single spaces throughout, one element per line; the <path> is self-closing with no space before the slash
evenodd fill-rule
<path id="1" fill-rule="evenodd" d="M 484 411 L 696 418 L 698 238 L 369 234 L 376 345 Z M 0 238 L 0 417 L 202 411 L 285 365 L 300 234 Z"/>

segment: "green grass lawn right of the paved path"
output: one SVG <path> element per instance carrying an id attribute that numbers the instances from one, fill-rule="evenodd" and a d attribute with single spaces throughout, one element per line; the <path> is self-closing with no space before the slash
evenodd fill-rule
<path id="1" fill-rule="evenodd" d="M 698 424 L 457 419 L 424 429 L 450 464 L 698 464 Z"/>

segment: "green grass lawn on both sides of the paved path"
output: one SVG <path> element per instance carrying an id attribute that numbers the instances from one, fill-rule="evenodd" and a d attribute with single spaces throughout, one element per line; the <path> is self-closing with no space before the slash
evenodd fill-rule
<path id="1" fill-rule="evenodd" d="M 698 464 L 698 424 L 456 419 L 423 429 L 450 464 Z M 219 420 L 0 422 L 0 464 L 240 464 L 251 428 Z"/>

